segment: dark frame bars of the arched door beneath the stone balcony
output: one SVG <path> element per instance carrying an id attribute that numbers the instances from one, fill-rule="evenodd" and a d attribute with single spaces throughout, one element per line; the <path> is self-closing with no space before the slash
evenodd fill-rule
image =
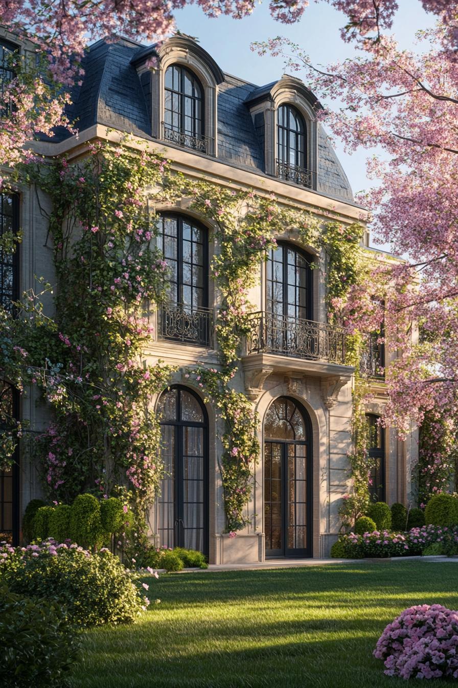
<path id="1" fill-rule="evenodd" d="M 264 414 L 263 430 L 264 424 L 266 422 L 266 416 L 268 410 L 276 402 L 291 402 L 295 408 L 301 414 L 302 420 L 304 421 L 304 429 L 306 433 L 305 440 L 284 440 L 276 438 L 266 438 L 264 432 L 264 463 L 266 460 L 266 444 L 280 444 L 282 446 L 282 548 L 277 550 L 270 550 L 267 548 L 266 541 L 266 558 L 282 558 L 282 557 L 297 557 L 306 558 L 313 556 L 313 434 L 312 434 L 312 421 L 310 419 L 310 414 L 304 405 L 297 399 L 290 396 L 279 396 L 274 399 L 269 405 L 266 413 Z M 295 412 L 295 411 L 294 411 Z M 293 414 L 294 414 L 293 412 Z M 293 415 L 292 414 L 292 415 Z M 287 527 L 288 527 L 288 482 L 286 478 L 288 475 L 288 445 L 299 445 L 306 447 L 306 548 L 288 548 L 287 546 Z M 266 533 L 265 524 L 265 506 L 266 506 L 266 476 L 265 476 L 265 466 L 264 466 L 264 532 Z"/>

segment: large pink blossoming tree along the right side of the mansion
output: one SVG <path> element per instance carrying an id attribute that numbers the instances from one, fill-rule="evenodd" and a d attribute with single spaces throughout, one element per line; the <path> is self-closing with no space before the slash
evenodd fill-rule
<path id="1" fill-rule="evenodd" d="M 354 39 L 355 58 L 317 68 L 285 39 L 253 49 L 304 70 L 328 103 L 317 117 L 347 151 L 385 153 L 369 159 L 377 184 L 358 200 L 374 213 L 376 239 L 408 259 L 377 261 L 334 305 L 350 332 L 382 331 L 396 352 L 385 371 L 385 424 L 402 438 L 425 413 L 431 420 L 458 410 L 458 7 L 424 1 L 441 21 L 417 33 L 413 52 L 382 32 L 396 3 L 334 4 L 349 16 L 344 37 Z"/>

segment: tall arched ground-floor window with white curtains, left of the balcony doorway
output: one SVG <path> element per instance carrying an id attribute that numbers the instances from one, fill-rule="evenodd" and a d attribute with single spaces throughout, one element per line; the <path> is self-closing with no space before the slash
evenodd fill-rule
<path id="1" fill-rule="evenodd" d="M 165 477 L 157 500 L 159 543 L 208 554 L 208 418 L 194 391 L 161 394 L 161 457 Z"/>

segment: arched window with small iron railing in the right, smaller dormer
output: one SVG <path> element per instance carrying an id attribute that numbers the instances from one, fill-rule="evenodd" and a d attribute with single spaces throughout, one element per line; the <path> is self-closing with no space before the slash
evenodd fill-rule
<path id="1" fill-rule="evenodd" d="M 277 177 L 301 186 L 312 186 L 312 173 L 306 169 L 306 122 L 293 105 L 277 109 Z"/>

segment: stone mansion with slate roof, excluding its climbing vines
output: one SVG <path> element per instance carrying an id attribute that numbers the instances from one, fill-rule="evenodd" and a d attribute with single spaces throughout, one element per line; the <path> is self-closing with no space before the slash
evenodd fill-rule
<path id="1" fill-rule="evenodd" d="M 0 34 L 1 55 L 27 50 L 14 36 Z M 159 67 L 146 63 L 154 47 L 126 39 L 98 41 L 84 58 L 82 85 L 73 94 L 69 117 L 78 136 L 56 133 L 36 142 L 45 156 L 84 155 L 94 140 L 119 140 L 132 133 L 163 152 L 174 169 L 229 189 L 274 193 L 292 208 L 310 208 L 319 217 L 334 213 L 343 224 L 364 217 L 328 138 L 314 116 L 317 100 L 299 79 L 282 76 L 264 86 L 222 72 L 192 39 L 174 36 L 158 50 Z M 0 252 L 0 302 L 10 303 L 34 286 L 35 276 L 52 283 L 52 249 L 36 189 L 0 195 L 0 234 L 21 228 L 14 256 Z M 215 243 L 209 227 L 183 198 L 176 207 L 156 208 L 163 217 L 159 240 L 170 268 L 170 299 L 158 313 L 146 352 L 181 369 L 196 363 L 218 367 L 214 314 L 218 293 L 209 279 Z M 347 492 L 347 452 L 352 446 L 354 369 L 345 365 L 345 335 L 327 323 L 324 261 L 314 246 L 294 233 L 279 236 L 277 249 L 260 265 L 249 294 L 256 312 L 244 343 L 234 384 L 260 418 L 262 455 L 254 468 L 251 526 L 225 533 L 218 469 L 220 436 L 214 409 L 178 372 L 157 399 L 162 414 L 165 477 L 150 514 L 158 544 L 202 550 L 210 563 L 255 563 L 266 557 L 325 557 L 341 522 Z M 368 237 L 365 244 L 368 246 Z M 372 250 L 367 248 L 367 250 Z M 46 308 L 52 309 L 47 302 Z M 410 466 L 417 453 L 413 431 L 399 442 L 391 429 L 378 429 L 385 403 L 382 367 L 394 352 L 374 343 L 365 356 L 373 398 L 367 406 L 376 427 L 371 452 L 378 459 L 374 498 L 407 503 Z M 32 395 L 19 398 L 3 386 L 15 413 L 32 431 L 47 423 L 46 410 Z M 21 514 L 41 496 L 36 468 L 16 452 L 12 471 L 0 474 L 0 533 L 19 541 Z"/>

